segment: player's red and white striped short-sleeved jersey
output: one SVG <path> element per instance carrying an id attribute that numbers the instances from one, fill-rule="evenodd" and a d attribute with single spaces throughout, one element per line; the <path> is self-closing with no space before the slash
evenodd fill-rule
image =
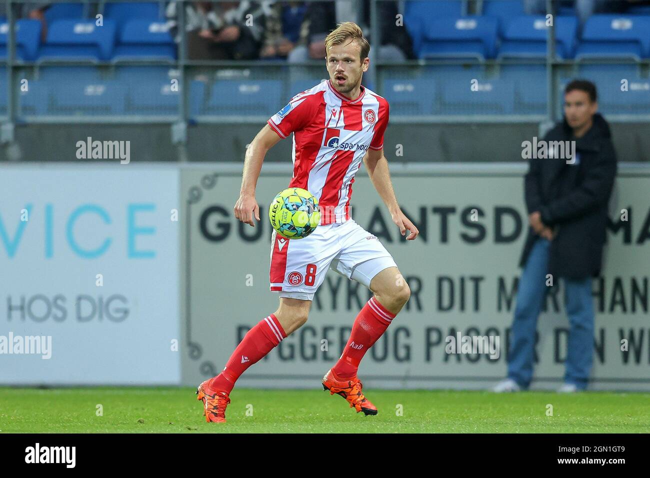
<path id="1" fill-rule="evenodd" d="M 268 125 L 282 138 L 293 133 L 293 178 L 318 198 L 320 224 L 350 219 L 354 175 L 368 148 L 383 148 L 388 101 L 361 86 L 356 100 L 337 92 L 330 80 L 296 94 Z"/>

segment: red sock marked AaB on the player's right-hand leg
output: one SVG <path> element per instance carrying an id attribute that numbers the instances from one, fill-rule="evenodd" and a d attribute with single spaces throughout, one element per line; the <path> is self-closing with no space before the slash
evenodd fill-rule
<path id="1" fill-rule="evenodd" d="M 393 319 L 395 314 L 388 312 L 374 297 L 363 306 L 354 320 L 343 354 L 332 368 L 335 378 L 348 380 L 356 377 L 365 352 L 382 336 Z"/>

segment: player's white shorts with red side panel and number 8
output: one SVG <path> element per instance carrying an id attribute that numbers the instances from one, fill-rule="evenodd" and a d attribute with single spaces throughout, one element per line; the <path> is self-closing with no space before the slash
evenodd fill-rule
<path id="1" fill-rule="evenodd" d="M 353 219 L 318 226 L 304 239 L 271 237 L 270 289 L 280 297 L 313 300 L 329 269 L 370 288 L 370 281 L 393 256 Z"/>

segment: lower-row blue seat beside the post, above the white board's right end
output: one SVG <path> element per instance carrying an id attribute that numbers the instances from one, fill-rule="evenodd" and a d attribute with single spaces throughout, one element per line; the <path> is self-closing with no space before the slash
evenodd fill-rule
<path id="1" fill-rule="evenodd" d="M 177 70 L 165 66 L 121 66 L 118 68 L 116 80 L 125 90 L 125 113 L 178 114 L 181 95 L 179 76 Z"/>

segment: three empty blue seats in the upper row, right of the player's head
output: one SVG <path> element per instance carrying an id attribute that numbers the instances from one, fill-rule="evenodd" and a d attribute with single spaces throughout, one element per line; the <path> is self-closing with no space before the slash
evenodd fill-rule
<path id="1" fill-rule="evenodd" d="M 545 16 L 422 18 L 413 10 L 405 24 L 420 59 L 541 58 L 547 55 Z M 650 58 L 650 16 L 593 15 L 578 36 L 575 16 L 554 18 L 560 59 Z"/>

